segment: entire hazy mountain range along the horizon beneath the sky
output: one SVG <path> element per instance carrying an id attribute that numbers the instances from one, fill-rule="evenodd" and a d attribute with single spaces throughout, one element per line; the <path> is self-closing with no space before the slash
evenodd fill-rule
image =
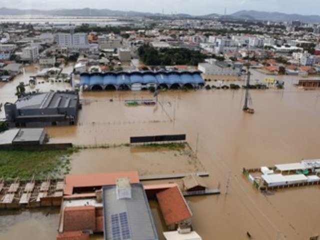
<path id="1" fill-rule="evenodd" d="M 110 9 L 16 9 L 16 8 L 0 8 L 0 15 L 55 15 L 55 16 L 160 16 L 160 13 L 138 12 L 138 11 L 120 11 Z M 221 15 L 216 13 L 206 15 L 190 15 L 185 13 L 175 14 L 179 17 L 199 17 L 199 18 L 214 18 Z M 300 15 L 300 14 L 286 14 L 282 12 L 267 12 L 254 10 L 240 10 L 236 11 L 227 17 L 248 19 L 248 20 L 271 20 L 271 21 L 292 21 L 300 20 L 307 23 L 320 22 L 320 15 Z"/>

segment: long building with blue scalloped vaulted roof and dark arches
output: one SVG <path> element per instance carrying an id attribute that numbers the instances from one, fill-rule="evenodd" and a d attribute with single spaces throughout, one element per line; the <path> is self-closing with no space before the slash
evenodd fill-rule
<path id="1" fill-rule="evenodd" d="M 141 90 L 149 86 L 178 89 L 204 85 L 199 71 L 132 71 L 80 74 L 80 85 L 89 90 Z"/>

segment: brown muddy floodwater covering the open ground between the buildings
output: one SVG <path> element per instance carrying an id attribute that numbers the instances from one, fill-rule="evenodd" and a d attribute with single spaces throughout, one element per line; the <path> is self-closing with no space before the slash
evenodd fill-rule
<path id="1" fill-rule="evenodd" d="M 253 71 L 253 79 L 264 77 Z M 204 178 L 205 182 L 210 187 L 220 182 L 222 190 L 220 195 L 187 197 L 193 213 L 192 225 L 202 239 L 247 239 L 247 231 L 253 239 L 308 239 L 314 233 L 320 233 L 319 186 L 262 194 L 241 174 L 242 167 L 269 166 L 320 156 L 320 91 L 294 87 L 295 78 L 291 76 L 276 78 L 285 80 L 283 91 L 250 91 L 255 109 L 252 115 L 241 110 L 243 90 L 161 92 L 159 100 L 163 108 L 160 105 L 124 105 L 124 99 L 152 97 L 148 92 L 84 92 L 81 93 L 84 103 L 78 125 L 46 130 L 53 142 L 70 141 L 82 145 L 126 143 L 132 135 L 186 133 L 193 151 L 198 135 L 197 157 L 210 173 Z M 11 88 L 4 84 L 0 85 L 1 102 L 10 95 L 7 91 Z M 152 173 L 153 169 L 165 172 L 166 164 L 167 173 L 172 171 L 172 163 L 166 159 L 166 154 L 172 152 L 151 154 L 119 149 L 80 151 L 73 157 L 71 171 L 133 168 Z M 154 161 L 149 155 L 154 156 Z M 116 163 L 109 163 L 112 159 Z M 90 168 L 87 162 L 92 165 Z M 174 167 L 179 167 L 176 165 Z M 177 168 L 179 171 L 183 169 Z M 153 205 L 151 209 L 155 214 Z M 16 224 L 28 229 L 27 219 L 32 216 L 21 217 L 24 223 Z M 1 216 L 0 224 L 6 218 Z M 56 229 L 54 224 L 47 225 L 46 221 L 38 224 L 49 232 Z M 14 224 L 1 230 L 0 234 L 0 239 L 3 234 L 8 239 L 18 239 L 14 237 L 18 234 Z M 29 239 L 43 239 L 35 235 Z"/>

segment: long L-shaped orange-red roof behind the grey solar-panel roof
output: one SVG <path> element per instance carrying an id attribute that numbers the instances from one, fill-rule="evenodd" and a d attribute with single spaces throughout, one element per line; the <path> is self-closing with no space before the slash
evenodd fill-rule
<path id="1" fill-rule="evenodd" d="M 139 175 L 137 171 L 93 173 L 93 174 L 69 174 L 65 176 L 63 193 L 65 195 L 72 194 L 74 187 L 114 185 L 116 178 L 119 178 L 119 177 L 128 177 L 130 180 L 130 183 L 139 182 Z"/>

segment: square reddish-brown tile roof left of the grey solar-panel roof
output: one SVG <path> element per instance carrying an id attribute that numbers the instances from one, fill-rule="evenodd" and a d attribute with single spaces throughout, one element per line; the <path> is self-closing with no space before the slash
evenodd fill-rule
<path id="1" fill-rule="evenodd" d="M 63 209 L 63 231 L 95 230 L 94 206 L 68 206 Z"/>

